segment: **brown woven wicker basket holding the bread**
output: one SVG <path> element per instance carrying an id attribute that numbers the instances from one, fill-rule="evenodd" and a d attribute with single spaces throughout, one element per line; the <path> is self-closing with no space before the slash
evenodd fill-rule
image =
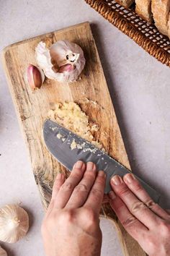
<path id="1" fill-rule="evenodd" d="M 153 57 L 170 67 L 170 40 L 135 13 L 134 7 L 125 9 L 113 0 L 85 0 L 92 8 Z"/>

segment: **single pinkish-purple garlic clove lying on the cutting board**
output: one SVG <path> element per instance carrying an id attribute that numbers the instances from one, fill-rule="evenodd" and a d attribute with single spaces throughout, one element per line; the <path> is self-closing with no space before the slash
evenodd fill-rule
<path id="1" fill-rule="evenodd" d="M 32 90 L 35 90 L 41 87 L 45 80 L 45 75 L 42 72 L 42 69 L 30 64 L 27 67 L 27 80 Z"/>

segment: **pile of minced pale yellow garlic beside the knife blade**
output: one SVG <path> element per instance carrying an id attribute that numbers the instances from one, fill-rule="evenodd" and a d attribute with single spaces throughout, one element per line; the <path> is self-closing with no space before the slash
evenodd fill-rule
<path id="1" fill-rule="evenodd" d="M 70 129 L 76 135 L 88 140 L 97 148 L 103 148 L 102 144 L 96 141 L 93 136 L 93 131 L 97 132 L 99 129 L 98 125 L 94 124 L 90 127 L 89 116 L 86 116 L 78 104 L 74 102 L 56 103 L 55 109 L 48 112 L 48 117 Z M 74 148 L 75 145 L 72 145 L 72 147 Z"/>

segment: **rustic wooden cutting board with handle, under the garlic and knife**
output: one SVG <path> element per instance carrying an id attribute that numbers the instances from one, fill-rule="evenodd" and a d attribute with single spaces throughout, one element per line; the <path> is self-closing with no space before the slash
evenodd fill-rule
<path id="1" fill-rule="evenodd" d="M 81 80 L 68 85 L 46 79 L 40 90 L 32 92 L 27 85 L 25 74 L 29 64 L 36 65 L 35 47 L 41 40 L 48 46 L 56 40 L 78 43 L 84 50 L 86 58 Z M 50 155 L 42 139 L 42 123 L 52 103 L 63 101 L 79 103 L 81 109 L 89 116 L 89 120 L 95 120 L 99 124 L 97 139 L 103 143 L 109 155 L 130 168 L 89 22 L 14 43 L 2 52 L 2 61 L 19 124 L 30 153 L 32 171 L 45 208 L 48 208 L 50 202 L 55 175 L 58 171 L 68 175 L 66 168 Z M 95 105 L 91 101 L 96 101 L 98 104 Z M 108 203 L 103 204 L 101 215 L 115 224 L 126 256 L 146 255 L 138 243 L 122 228 Z"/>

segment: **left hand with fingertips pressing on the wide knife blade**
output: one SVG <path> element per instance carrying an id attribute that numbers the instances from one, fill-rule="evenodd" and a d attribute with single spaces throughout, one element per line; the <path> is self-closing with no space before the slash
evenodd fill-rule
<path id="1" fill-rule="evenodd" d="M 42 238 L 47 256 L 99 256 L 102 232 L 99 211 L 105 174 L 94 163 L 78 161 L 66 179 L 58 174 L 45 219 Z"/>

